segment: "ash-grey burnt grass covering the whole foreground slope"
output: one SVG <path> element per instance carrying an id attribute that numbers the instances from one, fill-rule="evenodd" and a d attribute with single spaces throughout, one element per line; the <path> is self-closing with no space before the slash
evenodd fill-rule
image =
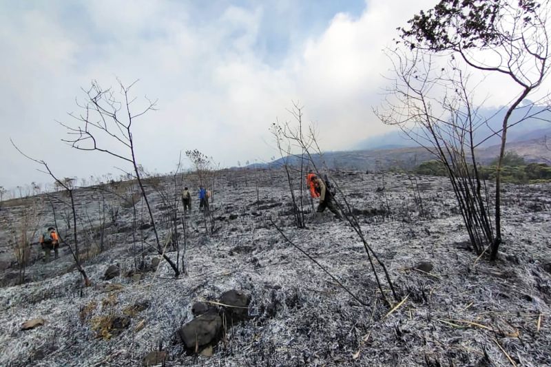
<path id="1" fill-rule="evenodd" d="M 39 247 L 32 246 L 23 279 L 10 228 L 20 225 L 30 201 L 0 209 L 0 365 L 138 366 L 147 353 L 164 350 L 166 366 L 551 366 L 550 184 L 504 187 L 502 252 L 492 263 L 470 249 L 446 178 L 417 177 L 415 185 L 405 174 L 332 176 L 385 262 L 399 300 L 407 297 L 390 315 L 349 224 L 329 211 L 316 218 L 304 197 L 307 228 L 293 225 L 282 171 L 218 173 L 211 203 L 215 231 L 205 230 L 194 198 L 187 218 L 187 274 L 178 278 L 166 262 L 156 271 L 134 269 L 159 257 L 147 246 L 154 235 L 142 217 L 142 200 L 133 247 L 132 205 L 107 192 L 102 199 L 96 189 L 78 189 L 83 266 L 93 283 L 87 288 L 67 247 L 58 260 L 43 264 Z M 170 182 L 156 178 L 147 184 L 163 244 L 165 205 L 155 187 Z M 193 175 L 184 183 L 198 186 Z M 492 195 L 491 184 L 488 190 Z M 65 200 L 63 193 L 54 196 Z M 51 223 L 42 199 L 37 220 Z M 101 200 L 120 212 L 116 224 L 107 219 L 104 249 L 98 251 Z M 63 205 L 57 206 L 61 213 Z M 367 306 L 288 244 L 270 219 Z M 179 232 L 181 256 L 181 224 Z M 176 261 L 171 244 L 167 255 Z M 419 261 L 433 264 L 430 274 L 412 269 Z M 112 264 L 121 275 L 103 280 Z M 213 356 L 185 353 L 175 333 L 193 318 L 191 306 L 216 301 L 230 289 L 251 295 L 249 319 L 227 328 Z M 395 306 L 385 284 L 384 290 Z M 37 317 L 45 319 L 43 326 L 21 331 L 23 322 Z"/>

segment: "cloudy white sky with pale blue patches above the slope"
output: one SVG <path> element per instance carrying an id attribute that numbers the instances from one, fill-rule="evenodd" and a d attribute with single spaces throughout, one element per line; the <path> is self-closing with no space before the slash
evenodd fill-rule
<path id="1" fill-rule="evenodd" d="M 304 107 L 324 150 L 388 132 L 372 109 L 387 83 L 382 52 L 432 0 L 11 1 L 0 0 L 0 186 L 50 182 L 10 143 L 60 177 L 88 178 L 126 162 L 63 143 L 79 124 L 82 89 L 117 78 L 158 100 L 136 118 L 136 159 L 176 168 L 199 149 L 220 167 L 277 156 L 269 127 Z M 116 94 L 117 97 L 120 95 Z M 105 143 L 104 143 L 105 142 Z M 109 149 L 121 149 L 102 140 Z M 189 166 L 189 162 L 185 161 Z"/>

